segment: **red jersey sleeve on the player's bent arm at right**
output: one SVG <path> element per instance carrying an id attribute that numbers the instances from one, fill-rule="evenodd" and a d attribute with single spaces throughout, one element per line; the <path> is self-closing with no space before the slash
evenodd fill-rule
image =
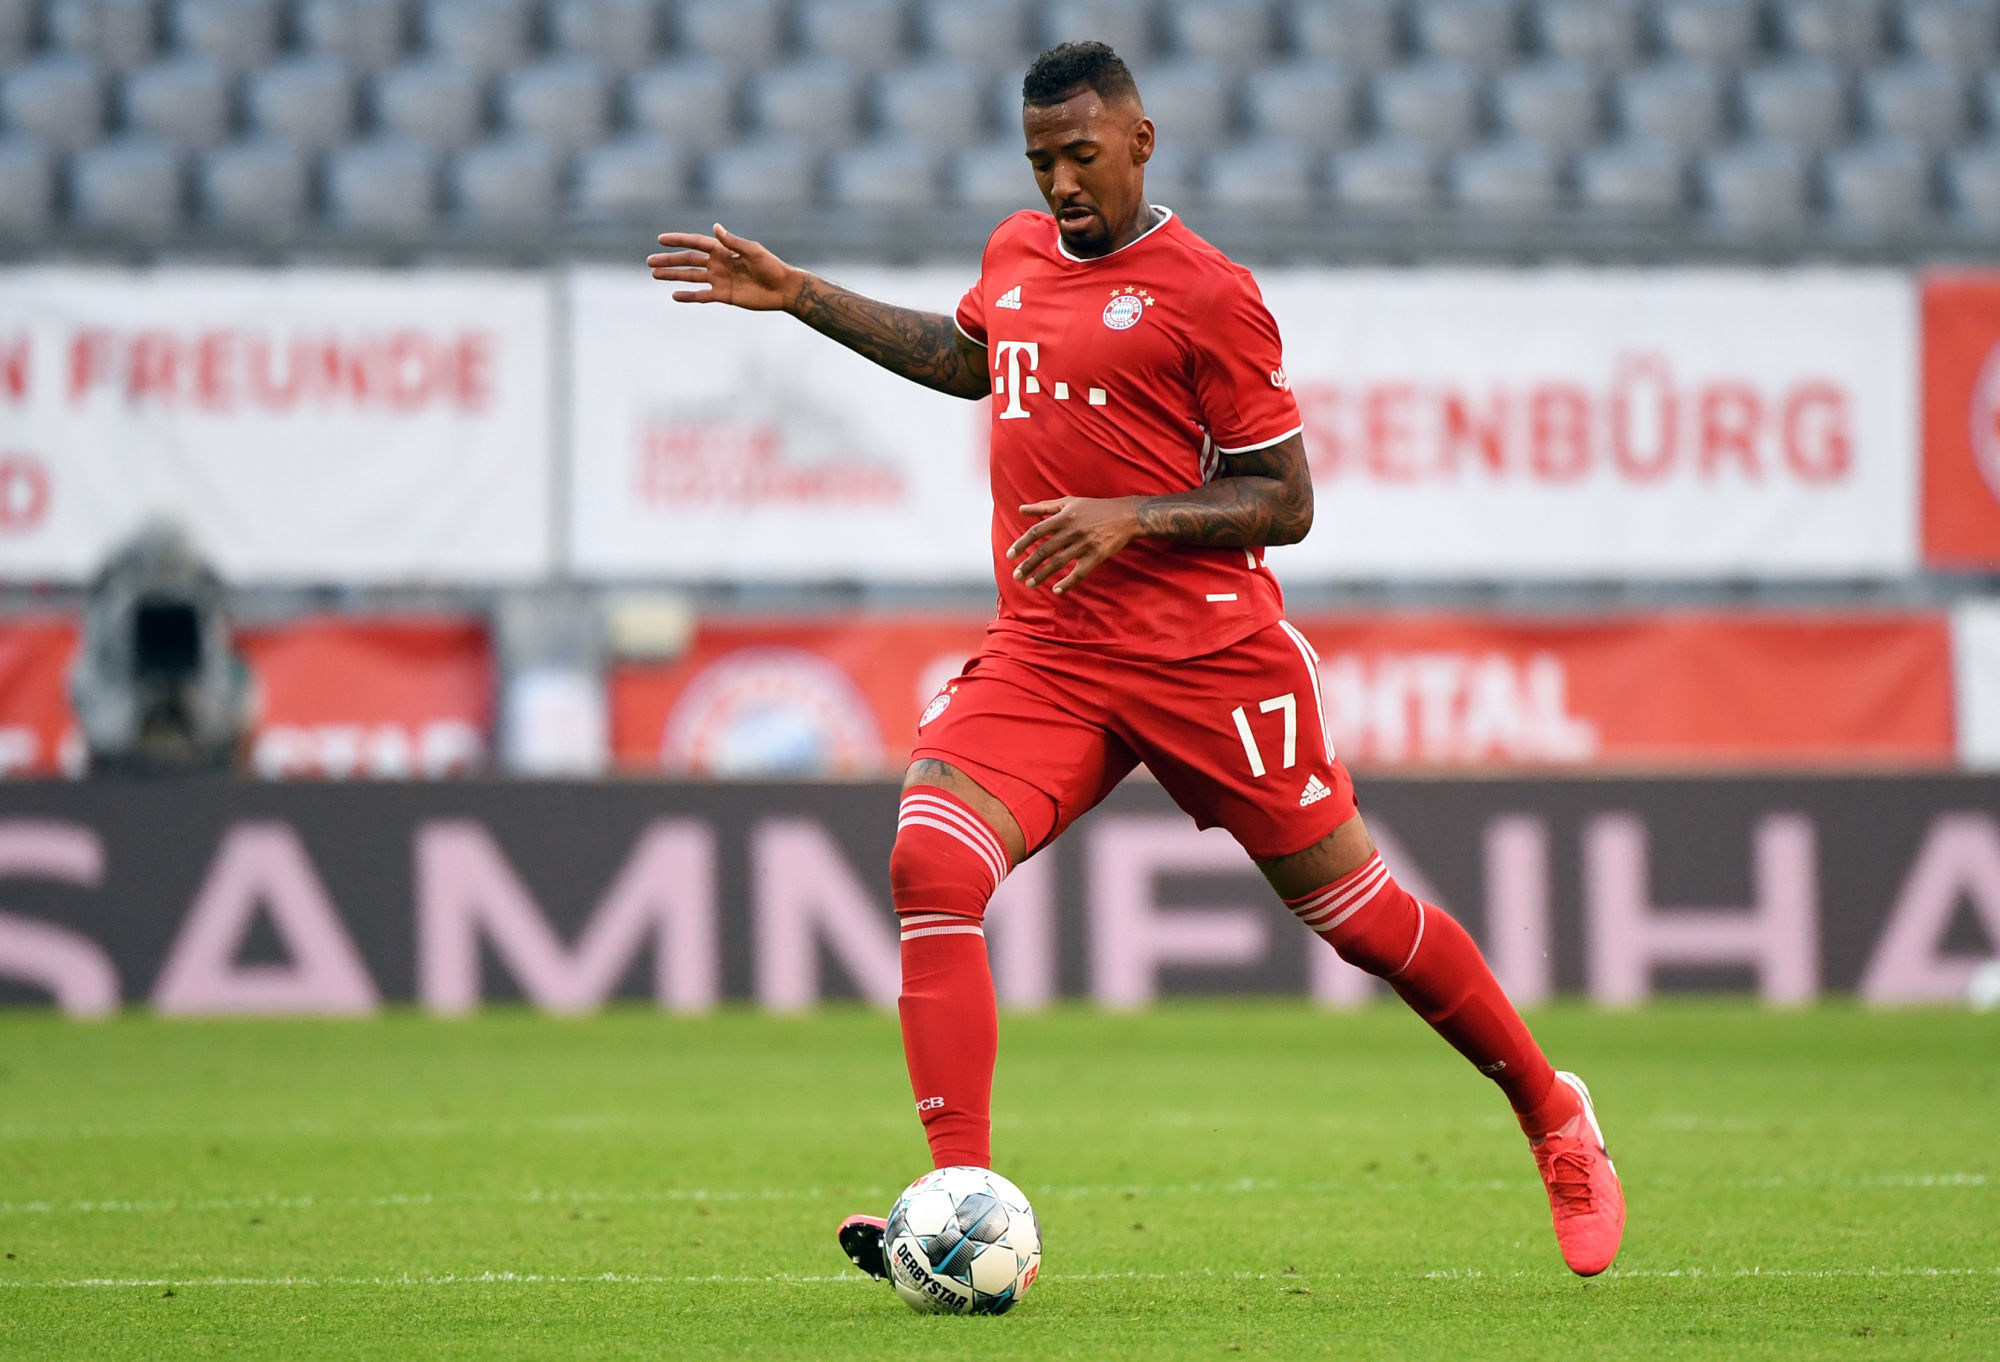
<path id="1" fill-rule="evenodd" d="M 1256 280 L 1230 274 L 1202 322 L 1194 334 L 1194 402 L 1216 448 L 1242 454 L 1298 434 L 1284 342 Z"/>

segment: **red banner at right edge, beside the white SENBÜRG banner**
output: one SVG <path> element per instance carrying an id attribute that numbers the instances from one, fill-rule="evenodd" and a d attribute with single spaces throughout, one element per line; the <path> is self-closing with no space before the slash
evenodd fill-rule
<path id="1" fill-rule="evenodd" d="M 2000 274 L 1924 280 L 1924 560 L 2000 564 Z"/>

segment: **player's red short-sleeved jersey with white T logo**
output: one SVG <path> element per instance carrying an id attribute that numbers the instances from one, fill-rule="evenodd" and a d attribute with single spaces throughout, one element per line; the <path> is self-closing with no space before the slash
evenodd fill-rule
<path id="1" fill-rule="evenodd" d="M 988 238 L 956 320 L 986 346 L 994 380 L 994 644 L 1012 632 L 1176 660 L 1278 622 L 1260 550 L 1134 540 L 1062 596 L 1028 590 L 1006 560 L 1034 524 L 1022 506 L 1188 492 L 1222 454 L 1298 434 L 1278 324 L 1250 270 L 1172 212 L 1094 260 L 1068 254 L 1046 212 L 1016 212 Z"/>

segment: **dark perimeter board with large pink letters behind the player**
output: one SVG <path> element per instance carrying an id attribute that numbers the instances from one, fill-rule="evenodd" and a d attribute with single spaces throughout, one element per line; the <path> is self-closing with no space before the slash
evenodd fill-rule
<path id="1" fill-rule="evenodd" d="M 2000 952 L 2000 778 L 1364 780 L 1524 1004 L 1950 1002 Z M 0 788 L 0 1000 L 92 1016 L 892 1006 L 892 784 Z M 1364 1002 L 1216 830 L 1128 782 L 1002 886 L 1002 998 Z"/>

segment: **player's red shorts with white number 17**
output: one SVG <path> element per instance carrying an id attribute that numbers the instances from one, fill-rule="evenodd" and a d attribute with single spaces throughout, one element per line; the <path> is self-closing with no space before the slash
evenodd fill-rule
<path id="1" fill-rule="evenodd" d="M 1008 806 L 1030 852 L 1140 762 L 1196 824 L 1228 828 L 1254 860 L 1302 852 L 1356 812 L 1318 656 L 1284 622 L 1182 662 L 988 634 L 916 734 L 912 760 L 972 776 Z"/>

